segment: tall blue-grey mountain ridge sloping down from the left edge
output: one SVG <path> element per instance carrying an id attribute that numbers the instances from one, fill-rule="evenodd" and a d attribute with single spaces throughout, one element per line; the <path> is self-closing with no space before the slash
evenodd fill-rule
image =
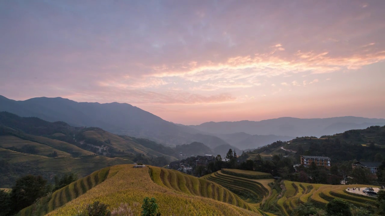
<path id="1" fill-rule="evenodd" d="M 176 125 L 127 103 L 86 103 L 65 98 L 31 98 L 15 101 L 0 96 L 0 111 L 45 121 L 64 121 L 72 126 L 92 126 L 110 133 L 146 138 L 168 146 L 204 143 L 210 148 L 228 144 L 205 132 Z"/>

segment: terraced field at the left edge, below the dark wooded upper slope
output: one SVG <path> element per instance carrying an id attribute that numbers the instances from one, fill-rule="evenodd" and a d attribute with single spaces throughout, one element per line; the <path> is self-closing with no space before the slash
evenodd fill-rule
<path id="1" fill-rule="evenodd" d="M 37 150 L 36 155 L 47 156 L 48 154 L 54 153 L 54 151 L 56 151 L 58 156 L 70 156 L 70 154 L 67 152 L 59 151 L 50 146 L 43 145 L 40 143 L 35 143 L 28 140 L 22 140 L 16 136 L 0 136 L 0 146 L 2 146 L 2 148 L 8 149 L 8 148 L 15 147 L 20 149 L 25 145 L 35 147 L 35 149 Z"/>

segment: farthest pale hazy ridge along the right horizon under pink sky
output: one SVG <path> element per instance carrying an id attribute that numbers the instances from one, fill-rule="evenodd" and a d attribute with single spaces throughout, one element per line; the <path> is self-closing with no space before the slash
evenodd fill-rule
<path id="1" fill-rule="evenodd" d="M 263 121 L 206 122 L 189 127 L 212 134 L 248 133 L 250 135 L 316 136 L 342 133 L 346 130 L 364 129 L 385 125 L 385 119 L 362 117 L 291 118 L 283 117 Z"/>

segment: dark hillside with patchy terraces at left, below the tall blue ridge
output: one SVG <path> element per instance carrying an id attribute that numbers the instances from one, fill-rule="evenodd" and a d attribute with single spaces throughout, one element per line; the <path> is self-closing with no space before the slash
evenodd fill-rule
<path id="1" fill-rule="evenodd" d="M 150 140 L 0 112 L 0 188 L 28 173 L 51 179 L 53 174 L 72 171 L 83 177 L 133 161 L 164 166 L 178 155 Z"/>

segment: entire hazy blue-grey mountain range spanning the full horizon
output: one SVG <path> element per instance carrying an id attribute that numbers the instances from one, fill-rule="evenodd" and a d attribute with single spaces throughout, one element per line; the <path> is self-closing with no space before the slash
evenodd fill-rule
<path id="1" fill-rule="evenodd" d="M 277 118 L 263 121 L 207 122 L 181 125 L 127 103 L 87 103 L 65 98 L 31 98 L 15 101 L 0 96 L 0 111 L 46 121 L 64 121 L 71 126 L 99 127 L 110 133 L 146 138 L 165 146 L 204 143 L 214 154 L 229 148 L 253 149 L 297 136 L 333 135 L 351 129 L 385 125 L 385 119 L 336 117 L 324 119 Z"/>

